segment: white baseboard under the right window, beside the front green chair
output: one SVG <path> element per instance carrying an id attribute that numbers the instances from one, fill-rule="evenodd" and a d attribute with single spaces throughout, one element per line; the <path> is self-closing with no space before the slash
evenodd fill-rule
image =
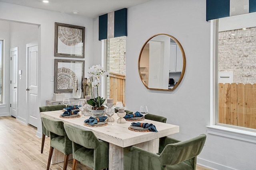
<path id="1" fill-rule="evenodd" d="M 197 162 L 198 165 L 204 166 L 204 167 L 212 169 L 212 170 L 236 170 L 234 168 L 230 168 L 228 166 L 217 164 L 215 162 L 204 160 L 204 159 L 198 158 L 198 157 L 197 157 L 197 161 L 196 162 Z"/>

